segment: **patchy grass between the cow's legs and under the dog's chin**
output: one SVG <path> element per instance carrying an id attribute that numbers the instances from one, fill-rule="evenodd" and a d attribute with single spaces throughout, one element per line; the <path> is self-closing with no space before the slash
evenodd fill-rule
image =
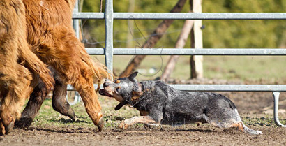
<path id="1" fill-rule="evenodd" d="M 139 112 L 134 108 L 129 108 L 124 106 L 119 111 L 115 111 L 114 108 L 118 104 L 118 101 L 115 101 L 113 98 L 99 96 L 100 103 L 102 105 L 103 116 L 105 119 L 106 127 L 117 126 L 120 121 L 116 118 L 130 118 L 135 115 L 139 115 Z M 39 114 L 33 120 L 33 125 L 36 126 L 82 126 L 82 127 L 93 127 L 94 124 L 87 115 L 84 104 L 82 102 L 72 105 L 73 110 L 75 111 L 76 120 L 73 122 L 69 117 L 61 115 L 59 112 L 56 112 L 52 109 L 52 100 L 47 99 L 44 101 L 43 105 L 40 108 Z"/>

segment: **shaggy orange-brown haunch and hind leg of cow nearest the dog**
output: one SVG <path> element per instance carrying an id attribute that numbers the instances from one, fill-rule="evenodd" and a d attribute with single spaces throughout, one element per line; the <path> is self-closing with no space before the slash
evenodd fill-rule
<path id="1" fill-rule="evenodd" d="M 23 0 L 26 7 L 28 43 L 32 51 L 52 66 L 63 80 L 80 93 L 86 112 L 101 131 L 103 117 L 93 87 L 110 75 L 105 66 L 94 62 L 75 37 L 71 25 L 75 0 Z M 101 120 L 100 120 L 101 119 Z"/>

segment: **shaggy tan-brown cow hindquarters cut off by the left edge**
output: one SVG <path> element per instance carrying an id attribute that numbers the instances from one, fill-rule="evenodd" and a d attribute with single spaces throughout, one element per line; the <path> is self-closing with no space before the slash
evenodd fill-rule
<path id="1" fill-rule="evenodd" d="M 38 82 L 33 76 L 38 73 L 47 89 L 54 82 L 45 64 L 29 49 L 24 10 L 21 0 L 0 0 L 1 135 L 8 133 L 20 117 L 24 99 Z"/>

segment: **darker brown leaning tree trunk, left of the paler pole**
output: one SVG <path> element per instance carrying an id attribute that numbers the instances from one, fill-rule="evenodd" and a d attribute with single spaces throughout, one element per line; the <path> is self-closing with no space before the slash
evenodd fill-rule
<path id="1" fill-rule="evenodd" d="M 186 0 L 179 0 L 176 3 L 176 6 L 170 11 L 171 13 L 178 13 L 181 12 L 183 9 L 184 4 L 186 3 Z M 160 40 L 160 38 L 165 34 L 165 31 L 168 29 L 170 24 L 172 24 L 174 20 L 163 20 L 157 27 L 155 31 L 153 31 L 151 37 L 142 45 L 142 48 L 153 48 L 156 43 Z M 126 69 L 119 75 L 119 78 L 126 77 L 127 75 L 130 75 L 130 73 L 133 73 L 135 69 L 141 64 L 142 60 L 146 57 L 146 55 L 136 55 L 132 61 L 128 64 Z"/>

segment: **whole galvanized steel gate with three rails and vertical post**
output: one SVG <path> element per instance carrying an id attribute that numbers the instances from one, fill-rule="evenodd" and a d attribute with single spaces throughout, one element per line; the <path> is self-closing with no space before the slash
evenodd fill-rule
<path id="1" fill-rule="evenodd" d="M 113 20 L 286 20 L 286 13 L 114 13 L 113 0 L 106 0 L 105 13 L 78 13 L 75 7 L 73 19 L 105 20 L 105 48 L 86 48 L 89 54 L 105 55 L 105 64 L 112 71 L 113 55 L 286 55 L 286 49 L 277 48 L 171 48 L 156 50 L 152 48 L 113 48 Z M 75 26 L 78 22 L 75 21 Z M 75 27 L 78 36 L 78 27 Z M 96 85 L 95 85 L 96 86 Z M 273 92 L 274 121 L 278 126 L 286 127 L 278 119 L 278 101 L 280 92 L 286 92 L 286 85 L 171 85 L 176 89 L 188 91 L 213 92 Z M 68 89 L 73 89 L 68 87 Z"/>

